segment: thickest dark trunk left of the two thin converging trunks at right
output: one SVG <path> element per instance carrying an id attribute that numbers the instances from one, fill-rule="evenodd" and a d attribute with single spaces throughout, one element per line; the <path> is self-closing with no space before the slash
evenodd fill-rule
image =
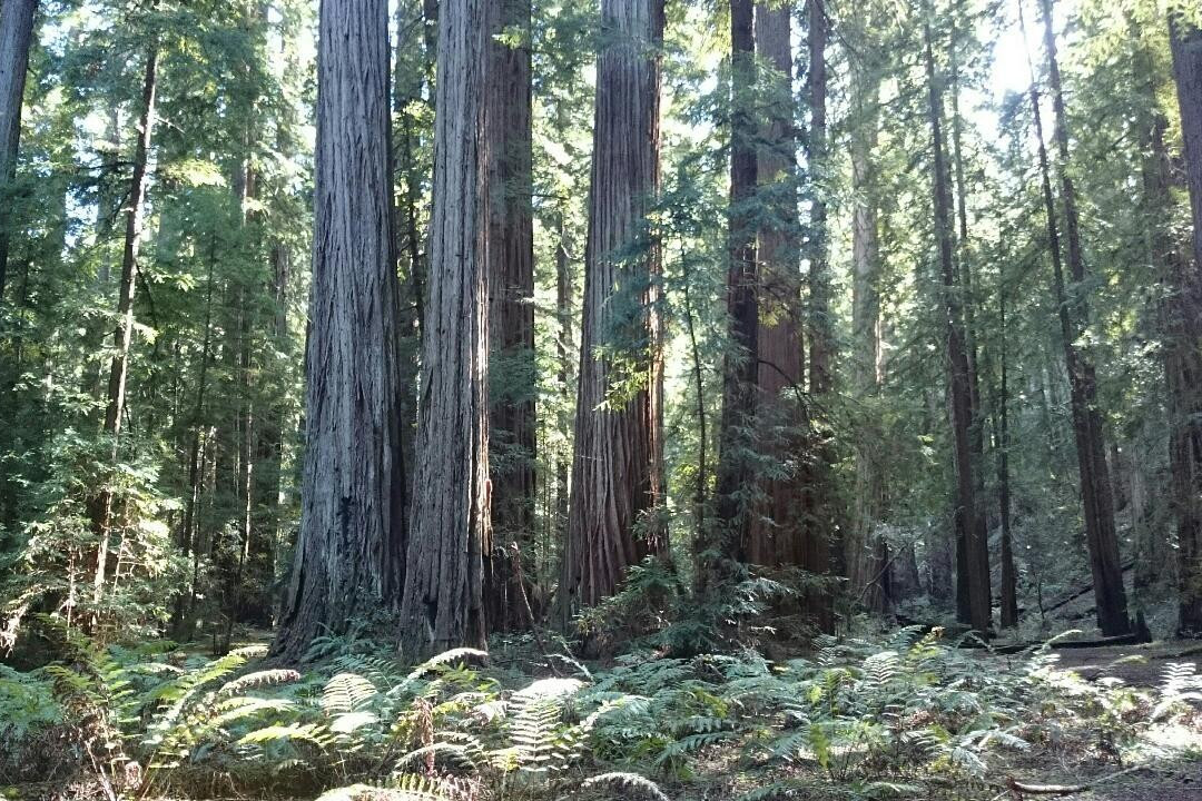
<path id="1" fill-rule="evenodd" d="M 969 361 L 964 342 L 964 319 L 959 297 L 959 280 L 956 269 L 954 246 L 952 243 L 952 199 L 950 175 L 944 145 L 944 103 L 942 88 L 935 72 L 935 56 L 932 48 L 930 24 L 923 26 L 924 56 L 927 67 L 928 101 L 930 114 L 933 163 L 933 193 L 935 210 L 935 239 L 939 250 L 939 262 L 942 268 L 944 304 L 947 321 L 947 366 L 951 384 L 952 438 L 956 456 L 956 537 L 963 542 L 964 560 L 957 564 L 957 587 L 964 586 L 968 597 L 968 620 L 964 622 L 984 635 L 989 630 L 992 618 L 988 551 L 976 526 L 976 483 L 972 479 L 972 446 L 970 442 L 972 426 L 972 399 L 969 379 Z M 982 558 L 982 551 L 984 557 Z M 959 560 L 957 560 L 960 562 Z M 982 564 L 984 570 L 982 574 Z M 958 593 L 960 591 L 958 590 Z"/>

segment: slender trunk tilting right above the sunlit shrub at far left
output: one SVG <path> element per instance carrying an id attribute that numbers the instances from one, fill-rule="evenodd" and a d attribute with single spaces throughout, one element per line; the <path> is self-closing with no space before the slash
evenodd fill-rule
<path id="1" fill-rule="evenodd" d="M 138 245 L 142 239 L 142 204 L 147 189 L 147 161 L 154 135 L 155 94 L 159 85 L 159 48 L 151 44 L 147 52 L 145 73 L 142 80 L 142 116 L 138 120 L 138 138 L 133 150 L 133 173 L 130 177 L 129 207 L 125 211 L 125 250 L 121 255 L 121 288 L 117 299 L 117 330 L 113 334 L 115 349 L 108 371 L 108 404 L 105 408 L 105 432 L 112 438 L 112 461 L 117 462 L 118 437 L 125 413 L 125 382 L 129 375 L 130 343 L 133 340 L 133 287 L 138 270 Z M 108 562 L 109 533 L 112 530 L 113 494 L 106 486 L 90 503 L 91 527 L 96 534 L 96 560 L 93 575 L 93 598 L 99 602 L 103 594 L 105 574 Z"/>

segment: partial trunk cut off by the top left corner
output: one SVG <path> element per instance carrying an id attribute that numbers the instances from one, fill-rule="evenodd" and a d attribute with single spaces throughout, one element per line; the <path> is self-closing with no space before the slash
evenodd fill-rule
<path id="1" fill-rule="evenodd" d="M 13 223 L 12 183 L 20 142 L 20 106 L 25 96 L 29 46 L 37 0 L 0 2 L 0 300 L 8 271 L 8 235 Z"/>

